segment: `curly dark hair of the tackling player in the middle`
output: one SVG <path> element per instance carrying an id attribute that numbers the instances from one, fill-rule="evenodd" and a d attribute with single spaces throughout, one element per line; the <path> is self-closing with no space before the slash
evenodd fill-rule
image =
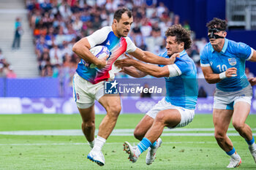
<path id="1" fill-rule="evenodd" d="M 184 42 L 184 49 L 187 50 L 192 45 L 192 40 L 190 38 L 191 31 L 183 28 L 181 25 L 173 25 L 167 28 L 165 31 L 165 36 L 176 36 L 176 42 Z"/>

